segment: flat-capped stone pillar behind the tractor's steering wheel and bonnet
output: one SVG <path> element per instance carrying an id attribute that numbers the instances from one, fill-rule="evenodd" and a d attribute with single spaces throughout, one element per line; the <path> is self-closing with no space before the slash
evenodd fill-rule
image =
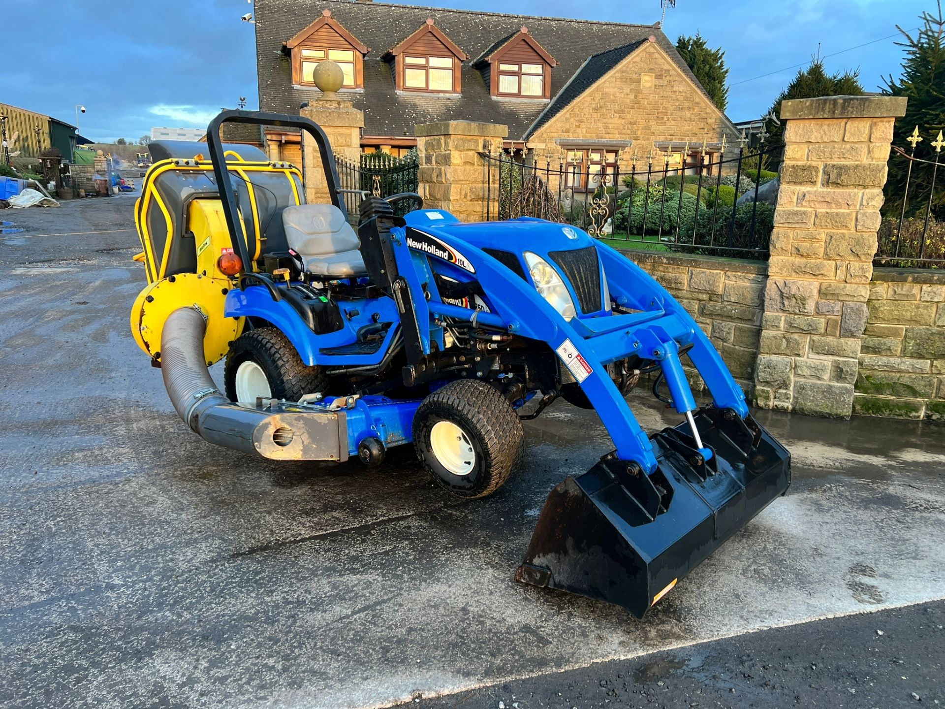
<path id="1" fill-rule="evenodd" d="M 486 218 L 486 160 L 490 142 L 507 137 L 508 127 L 472 121 L 425 123 L 414 129 L 420 153 L 423 206 L 442 209 L 461 221 Z M 493 174 L 492 179 L 496 176 Z M 492 192 L 495 192 L 493 185 Z"/>

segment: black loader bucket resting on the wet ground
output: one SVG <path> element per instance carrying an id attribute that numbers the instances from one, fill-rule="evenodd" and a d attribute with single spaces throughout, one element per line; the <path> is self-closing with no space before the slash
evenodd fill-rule
<path id="1" fill-rule="evenodd" d="M 541 510 L 515 578 L 599 598 L 643 617 L 699 562 L 791 482 L 790 454 L 751 416 L 703 408 L 689 424 L 650 437 L 659 461 L 647 476 L 606 456 L 568 476 Z"/>

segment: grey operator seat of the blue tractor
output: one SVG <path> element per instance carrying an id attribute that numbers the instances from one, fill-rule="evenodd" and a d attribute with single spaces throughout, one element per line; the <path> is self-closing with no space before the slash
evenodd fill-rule
<path id="1" fill-rule="evenodd" d="M 358 251 L 361 242 L 348 216 L 334 204 L 285 207 L 283 229 L 289 249 L 299 253 L 309 273 L 329 278 L 368 275 Z"/>

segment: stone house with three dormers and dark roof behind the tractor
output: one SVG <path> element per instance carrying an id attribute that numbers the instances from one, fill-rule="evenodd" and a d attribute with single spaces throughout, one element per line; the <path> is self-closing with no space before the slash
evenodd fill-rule
<path id="1" fill-rule="evenodd" d="M 703 143 L 711 161 L 737 137 L 659 24 L 350 0 L 256 0 L 255 20 L 261 109 L 299 112 L 320 95 L 318 61 L 336 61 L 362 150 L 404 152 L 420 124 L 487 122 L 508 127 L 508 149 L 593 173 L 654 149 L 671 169 L 697 164 Z M 298 160 L 298 141 L 266 130 L 273 157 Z"/>

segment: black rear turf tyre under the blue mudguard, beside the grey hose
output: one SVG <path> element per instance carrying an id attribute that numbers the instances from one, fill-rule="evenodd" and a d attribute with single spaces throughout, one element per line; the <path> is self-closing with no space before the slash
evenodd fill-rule
<path id="1" fill-rule="evenodd" d="M 223 380 L 230 401 L 236 401 L 236 370 L 248 358 L 266 372 L 269 389 L 277 399 L 299 401 L 305 394 L 327 389 L 328 377 L 324 371 L 302 362 L 295 345 L 282 331 L 257 327 L 237 337 L 227 355 Z"/>

